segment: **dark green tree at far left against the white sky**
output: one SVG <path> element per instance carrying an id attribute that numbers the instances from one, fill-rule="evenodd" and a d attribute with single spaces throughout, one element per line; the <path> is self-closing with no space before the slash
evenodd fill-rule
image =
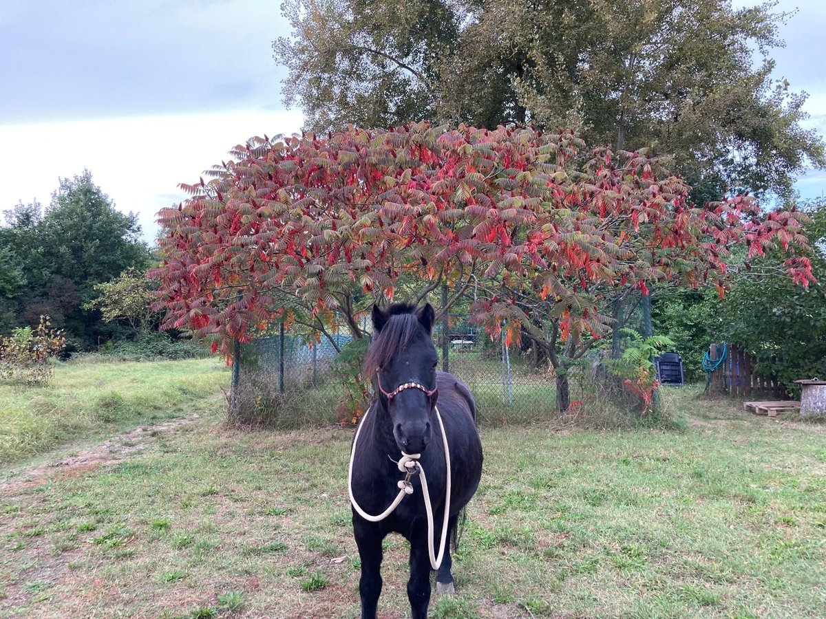
<path id="1" fill-rule="evenodd" d="M 94 286 L 129 267 L 150 266 L 135 215 L 116 210 L 88 171 L 61 179 L 45 212 L 37 202 L 21 203 L 5 211 L 5 219 L 0 309 L 7 327 L 36 325 L 48 314 L 90 344 L 102 333 L 97 315 L 82 307 L 95 296 Z"/>

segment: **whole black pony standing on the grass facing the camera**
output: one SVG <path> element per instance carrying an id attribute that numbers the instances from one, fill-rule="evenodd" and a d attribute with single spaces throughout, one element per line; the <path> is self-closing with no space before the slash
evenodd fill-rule
<path id="1" fill-rule="evenodd" d="M 382 540 L 388 533 L 401 533 L 411 543 L 410 581 L 407 597 L 413 618 L 427 617 L 430 602 L 431 560 L 428 522 L 420 475 L 415 461 L 406 455 L 420 454 L 433 511 L 433 544 L 436 552 L 442 538 L 447 485 L 447 466 L 441 423 L 449 447 L 451 493 L 448 534 L 455 539 L 458 514 L 476 492 L 482 476 L 482 442 L 476 428 L 476 404 L 468 387 L 458 378 L 436 371 L 439 357 L 433 345 L 434 310 L 428 304 L 416 311 L 412 305 L 391 305 L 386 311 L 373 306 L 373 344 L 365 371 L 373 376 L 377 398 L 359 425 L 351 451 L 351 500 L 363 513 L 377 516 L 400 497 L 405 478 L 400 472 L 407 462 L 414 475 L 407 475 L 410 496 L 380 522 L 371 522 L 353 508 L 353 532 L 361 556 L 362 617 L 376 617 L 382 593 Z M 436 416 L 439 399 L 441 423 Z M 414 458 L 416 456 L 413 456 Z M 403 488 L 402 488 L 403 490 Z M 453 591 L 449 548 L 436 573 L 438 591 Z"/>

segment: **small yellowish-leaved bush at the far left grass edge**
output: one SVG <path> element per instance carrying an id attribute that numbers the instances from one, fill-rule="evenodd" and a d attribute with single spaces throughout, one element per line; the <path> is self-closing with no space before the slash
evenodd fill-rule
<path id="1" fill-rule="evenodd" d="M 16 328 L 10 337 L 0 338 L 0 379 L 47 384 L 53 371 L 51 360 L 59 357 L 65 344 L 63 331 L 51 328 L 48 316 L 40 316 L 36 329 Z"/>

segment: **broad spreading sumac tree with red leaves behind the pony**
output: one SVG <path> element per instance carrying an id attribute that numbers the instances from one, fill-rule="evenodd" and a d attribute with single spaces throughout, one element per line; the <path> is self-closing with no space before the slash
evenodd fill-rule
<path id="1" fill-rule="evenodd" d="M 572 131 L 426 123 L 250 140 L 159 214 L 164 327 L 216 335 L 225 354 L 276 319 L 362 337 L 359 312 L 402 278 L 421 295 L 447 282 L 448 306 L 474 286 L 489 293 L 477 323 L 548 353 L 564 410 L 566 369 L 606 333 L 616 291 L 722 291 L 736 245 L 781 245 L 791 278 L 810 280 L 795 213 L 696 207 L 648 155 L 584 146 Z"/>

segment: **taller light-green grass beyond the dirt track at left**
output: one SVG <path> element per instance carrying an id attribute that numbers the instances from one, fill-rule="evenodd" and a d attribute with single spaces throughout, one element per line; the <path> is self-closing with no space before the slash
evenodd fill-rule
<path id="1" fill-rule="evenodd" d="M 203 408 L 229 385 L 220 360 L 69 361 L 51 384 L 0 381 L 0 463 L 19 461 L 78 437 L 96 437 L 137 423 Z M 214 408 L 214 401 L 211 403 Z"/>

